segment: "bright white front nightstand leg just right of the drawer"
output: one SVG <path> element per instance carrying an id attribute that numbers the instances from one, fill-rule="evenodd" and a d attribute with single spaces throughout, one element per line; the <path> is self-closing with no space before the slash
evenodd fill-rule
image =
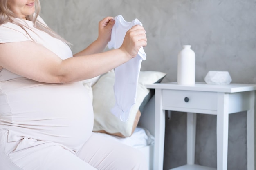
<path id="1" fill-rule="evenodd" d="M 227 170 L 229 130 L 229 95 L 218 93 L 217 108 L 217 170 Z"/>

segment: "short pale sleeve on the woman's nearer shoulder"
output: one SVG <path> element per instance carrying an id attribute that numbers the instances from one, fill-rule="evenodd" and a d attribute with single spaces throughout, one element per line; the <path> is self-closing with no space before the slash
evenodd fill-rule
<path id="1" fill-rule="evenodd" d="M 0 26 L 0 43 L 31 41 L 20 26 L 7 23 Z"/>

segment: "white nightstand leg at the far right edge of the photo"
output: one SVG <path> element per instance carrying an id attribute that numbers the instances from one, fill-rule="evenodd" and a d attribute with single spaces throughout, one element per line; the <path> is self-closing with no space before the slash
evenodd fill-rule
<path id="1" fill-rule="evenodd" d="M 255 120 L 255 92 L 250 93 L 250 110 L 247 110 L 247 170 L 255 170 L 255 132 L 254 132 L 254 120 Z"/>

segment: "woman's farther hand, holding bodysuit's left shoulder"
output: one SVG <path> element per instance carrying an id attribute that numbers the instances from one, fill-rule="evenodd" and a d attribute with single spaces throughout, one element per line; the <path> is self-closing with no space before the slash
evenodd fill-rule
<path id="1" fill-rule="evenodd" d="M 99 22 L 99 36 L 98 40 L 107 44 L 111 38 L 112 27 L 115 24 L 113 17 L 106 17 Z"/>

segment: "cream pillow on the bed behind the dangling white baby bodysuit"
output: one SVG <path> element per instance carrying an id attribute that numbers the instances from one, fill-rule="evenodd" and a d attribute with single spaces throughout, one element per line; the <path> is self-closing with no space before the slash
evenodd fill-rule
<path id="1" fill-rule="evenodd" d="M 111 113 L 115 105 L 114 82 L 115 73 L 110 71 L 102 75 L 92 87 L 94 109 L 94 132 L 106 132 L 121 137 L 130 137 L 137 126 L 140 116 L 139 107 L 150 90 L 144 84 L 161 82 L 166 73 L 157 71 L 140 71 L 136 103 L 130 110 L 130 117 L 126 122 L 121 121 Z M 147 99 L 149 100 L 149 99 Z M 145 105 L 145 104 L 144 104 Z"/>

